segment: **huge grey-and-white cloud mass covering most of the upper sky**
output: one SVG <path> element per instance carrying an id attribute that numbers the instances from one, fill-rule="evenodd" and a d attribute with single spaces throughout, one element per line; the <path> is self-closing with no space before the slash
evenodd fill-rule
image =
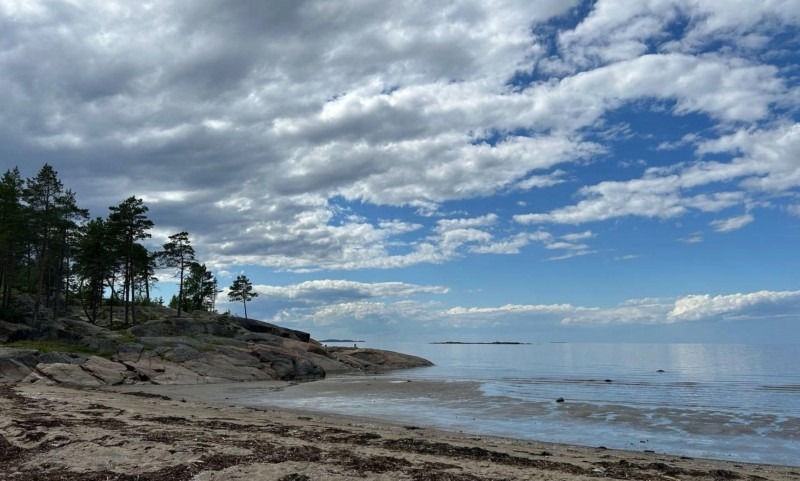
<path id="1" fill-rule="evenodd" d="M 775 119 L 791 117 L 792 75 L 753 54 L 798 24 L 795 2 L 603 0 L 563 27 L 579 4 L 4 2 L 0 143 L 24 169 L 53 164 L 95 215 L 144 198 L 218 269 L 513 255 L 542 241 L 527 225 L 722 216 L 797 187 L 800 131 Z M 706 119 L 703 136 L 658 142 L 696 157 L 584 185 L 519 225 L 413 218 L 566 190 L 614 153 L 616 127 L 629 135 L 609 117 L 632 105 Z M 591 253 L 558 246 L 552 259 Z"/>

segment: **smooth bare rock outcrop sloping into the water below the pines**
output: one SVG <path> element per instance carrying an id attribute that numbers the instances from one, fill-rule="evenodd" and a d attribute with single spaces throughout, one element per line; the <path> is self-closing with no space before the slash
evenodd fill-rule
<path id="1" fill-rule="evenodd" d="M 144 308 L 142 314 L 154 319 L 124 330 L 78 316 L 36 329 L 0 320 L 0 381 L 76 387 L 310 381 L 431 365 L 377 349 L 328 348 L 306 332 L 252 319 L 205 312 L 171 317 L 173 312 Z"/>

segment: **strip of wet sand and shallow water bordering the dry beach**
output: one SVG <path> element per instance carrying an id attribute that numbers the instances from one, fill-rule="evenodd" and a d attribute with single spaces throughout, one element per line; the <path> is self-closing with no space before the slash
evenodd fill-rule
<path id="1" fill-rule="evenodd" d="M 145 386 L 173 398 L 258 409 L 279 408 L 356 416 L 474 436 L 505 436 L 556 444 L 604 446 L 737 463 L 800 467 L 791 433 L 783 438 L 753 436 L 758 419 L 737 424 L 724 413 L 664 408 L 670 424 L 649 424 L 652 411 L 581 401 L 507 402 L 485 396 L 477 381 L 379 376 L 334 376 L 302 383 Z M 122 390 L 137 389 L 121 387 Z M 609 413 L 614 421 L 609 422 Z M 479 421 L 475 421 L 475 419 Z M 665 427 L 666 426 L 666 427 Z M 789 426 L 786 426 L 787 429 Z"/>

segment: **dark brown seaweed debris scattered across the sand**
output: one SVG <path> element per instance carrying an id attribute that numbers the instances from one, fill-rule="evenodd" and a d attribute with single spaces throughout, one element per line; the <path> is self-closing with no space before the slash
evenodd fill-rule
<path id="1" fill-rule="evenodd" d="M 20 396 L 12 387 L 0 385 L 0 398 L 6 404 L 20 407 L 12 419 L 13 428 L 19 432 L 19 443 L 0 434 L 0 481 L 188 481 L 201 472 L 222 471 L 234 466 L 251 464 L 280 464 L 287 462 L 313 462 L 328 465 L 337 472 L 355 478 L 376 474 L 398 473 L 414 481 L 499 481 L 496 477 L 481 477 L 468 472 L 469 462 L 492 463 L 522 470 L 537 470 L 540 473 L 561 473 L 591 478 L 661 480 L 676 479 L 726 481 L 747 479 L 759 481 L 766 478 L 748 476 L 743 478 L 733 471 L 714 469 L 708 471 L 685 469 L 664 462 L 634 463 L 627 460 L 600 461 L 589 465 L 541 459 L 551 453 L 520 453 L 511 455 L 482 447 L 460 446 L 449 442 L 429 441 L 414 437 L 388 439 L 374 432 L 348 430 L 315 425 L 285 425 L 279 423 L 241 424 L 226 418 L 193 419 L 191 417 L 161 416 L 145 418 L 141 415 L 131 419 L 148 425 L 134 426 L 121 419 L 97 416 L 111 413 L 115 409 L 99 404 L 90 404 L 65 419 L 51 415 L 41 400 Z M 24 403 L 24 407 L 22 404 Z M 42 404 L 42 405 L 37 405 Z M 121 411 L 120 411 L 121 412 Z M 119 414 L 117 412 L 116 414 Z M 75 426 L 96 426 L 109 435 L 94 439 L 98 446 L 120 446 L 126 436 L 137 436 L 140 440 L 173 446 L 176 442 L 194 443 L 199 459 L 191 463 L 165 466 L 161 469 L 136 474 L 107 470 L 74 472 L 57 466 L 31 467 L 26 462 L 39 453 L 59 449 L 70 442 L 65 437 L 45 439 L 48 430 L 59 428 L 68 431 Z M 169 426 L 180 429 L 170 430 Z M 113 437 L 111 434 L 121 436 Z M 270 437 L 273 437 L 270 440 Z M 276 440 L 291 438 L 292 444 Z M 241 448 L 247 454 L 225 454 L 214 452 L 214 443 L 224 439 L 228 446 Z M 108 444 L 108 443 L 116 444 Z M 22 447 L 29 446 L 29 447 Z M 32 446 L 32 447 L 30 447 Z M 382 454 L 364 454 L 360 446 L 370 446 Z M 407 454 L 424 455 L 410 460 Z M 434 462 L 427 456 L 451 462 Z M 306 481 L 309 476 L 302 473 L 285 475 L 283 481 Z"/>

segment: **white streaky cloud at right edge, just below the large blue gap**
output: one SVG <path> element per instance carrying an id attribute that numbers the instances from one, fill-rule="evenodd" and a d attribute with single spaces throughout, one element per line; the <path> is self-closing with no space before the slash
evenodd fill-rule
<path id="1" fill-rule="evenodd" d="M 522 224 L 582 224 L 626 216 L 669 219 L 691 211 L 713 213 L 747 205 L 800 186 L 800 165 L 794 161 L 800 155 L 800 124 L 739 129 L 697 147 L 699 156 L 719 152 L 738 156 L 730 162 L 698 161 L 652 168 L 638 179 L 586 186 L 579 191 L 584 199 L 577 204 L 548 213 L 520 214 L 514 219 Z M 701 187 L 713 190 L 697 193 Z M 746 220 L 747 215 L 738 218 L 738 222 Z"/>

